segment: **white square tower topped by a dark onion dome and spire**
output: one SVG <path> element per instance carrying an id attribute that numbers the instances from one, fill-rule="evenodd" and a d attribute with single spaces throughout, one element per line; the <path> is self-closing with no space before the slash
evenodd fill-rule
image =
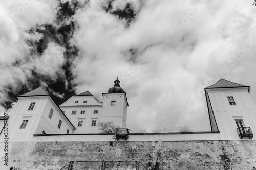
<path id="1" fill-rule="evenodd" d="M 126 92 L 120 87 L 120 81 L 114 81 L 114 87 L 108 93 L 102 93 L 102 121 L 112 120 L 116 126 L 126 127 L 127 107 L 129 106 Z"/>

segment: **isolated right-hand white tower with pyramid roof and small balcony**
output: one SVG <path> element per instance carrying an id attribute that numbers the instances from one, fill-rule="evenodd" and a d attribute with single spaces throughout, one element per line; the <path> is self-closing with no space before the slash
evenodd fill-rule
<path id="1" fill-rule="evenodd" d="M 205 88 L 211 131 L 223 139 L 253 137 L 256 114 L 249 92 L 249 86 L 225 79 Z"/>

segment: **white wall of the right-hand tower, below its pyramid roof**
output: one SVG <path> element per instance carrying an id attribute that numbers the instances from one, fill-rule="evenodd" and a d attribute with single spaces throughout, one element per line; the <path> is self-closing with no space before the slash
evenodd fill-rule
<path id="1" fill-rule="evenodd" d="M 207 89 L 222 139 L 237 139 L 236 120 L 242 119 L 245 127 L 256 132 L 256 114 L 247 88 Z M 232 96 L 236 105 L 230 105 L 227 96 Z M 255 138 L 255 137 L 254 137 Z"/>

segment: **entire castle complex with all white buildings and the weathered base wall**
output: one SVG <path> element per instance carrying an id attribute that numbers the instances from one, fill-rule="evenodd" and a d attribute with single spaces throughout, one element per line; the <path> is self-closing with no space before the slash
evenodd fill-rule
<path id="1" fill-rule="evenodd" d="M 255 105 L 250 87 L 220 79 L 206 87 L 210 131 L 130 133 L 117 140 L 99 121 L 126 127 L 127 98 L 114 82 L 102 102 L 89 91 L 58 106 L 42 87 L 17 96 L 0 133 L 0 169 L 252 169 Z M 207 110 L 205 110 L 207 114 Z M 0 125 L 4 118 L 0 117 Z M 6 125 L 7 126 L 7 125 Z M 5 127 L 5 124 L 4 124 Z"/>

